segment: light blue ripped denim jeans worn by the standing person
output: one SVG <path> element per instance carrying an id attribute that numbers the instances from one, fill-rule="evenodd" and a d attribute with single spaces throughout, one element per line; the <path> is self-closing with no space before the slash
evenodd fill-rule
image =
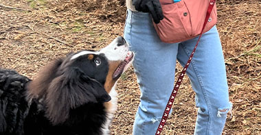
<path id="1" fill-rule="evenodd" d="M 150 14 L 131 10 L 127 10 L 124 38 L 136 54 L 133 66 L 141 90 L 133 134 L 152 135 L 174 86 L 176 60 L 184 66 L 198 38 L 172 44 L 161 42 Z M 216 26 L 203 34 L 186 73 L 198 108 L 194 134 L 221 134 L 231 103 Z"/>

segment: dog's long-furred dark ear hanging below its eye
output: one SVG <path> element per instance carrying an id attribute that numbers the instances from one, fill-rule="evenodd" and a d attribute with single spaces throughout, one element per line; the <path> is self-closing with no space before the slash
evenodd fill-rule
<path id="1" fill-rule="evenodd" d="M 104 86 L 85 75 L 78 68 L 64 69 L 47 89 L 47 117 L 54 125 L 69 117 L 70 109 L 85 103 L 104 103 L 111 97 Z"/>

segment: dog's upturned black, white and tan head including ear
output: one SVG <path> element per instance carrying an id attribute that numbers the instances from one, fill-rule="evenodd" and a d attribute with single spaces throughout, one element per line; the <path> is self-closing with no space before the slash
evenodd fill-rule
<path id="1" fill-rule="evenodd" d="M 30 99 L 41 99 L 53 124 L 63 123 L 69 111 L 85 103 L 104 103 L 120 75 L 133 61 L 122 37 L 100 51 L 78 51 L 54 60 L 28 86 Z"/>

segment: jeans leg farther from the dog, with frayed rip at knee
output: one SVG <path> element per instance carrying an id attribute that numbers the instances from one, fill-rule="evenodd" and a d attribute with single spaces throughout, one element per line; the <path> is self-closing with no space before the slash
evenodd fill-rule
<path id="1" fill-rule="evenodd" d="M 181 42 L 177 59 L 188 61 L 198 38 Z M 194 134 L 221 134 L 231 109 L 223 51 L 216 26 L 203 34 L 187 74 L 196 93 L 198 117 Z"/>

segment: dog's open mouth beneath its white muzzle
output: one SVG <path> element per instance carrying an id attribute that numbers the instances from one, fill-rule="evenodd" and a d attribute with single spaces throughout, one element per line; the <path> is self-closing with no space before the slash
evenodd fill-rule
<path id="1" fill-rule="evenodd" d="M 131 62 L 133 60 L 133 52 L 132 51 L 128 51 L 126 58 L 124 59 L 124 61 L 117 67 L 117 69 L 114 71 L 113 73 L 113 79 L 120 77 L 120 75 L 122 75 L 122 73 L 124 72 L 124 68 L 125 66 Z"/>

